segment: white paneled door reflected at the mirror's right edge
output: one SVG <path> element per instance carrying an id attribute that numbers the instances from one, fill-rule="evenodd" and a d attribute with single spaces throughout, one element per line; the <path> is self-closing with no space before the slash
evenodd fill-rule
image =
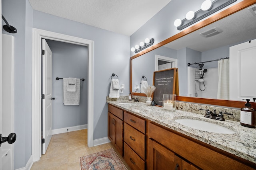
<path id="1" fill-rule="evenodd" d="M 256 39 L 229 48 L 230 100 L 256 96 Z"/>

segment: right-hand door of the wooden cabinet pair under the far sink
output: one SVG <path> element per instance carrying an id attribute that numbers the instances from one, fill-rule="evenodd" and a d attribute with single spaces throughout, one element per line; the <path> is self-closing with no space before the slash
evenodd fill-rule
<path id="1" fill-rule="evenodd" d="M 124 148 L 124 137 L 123 137 L 123 131 L 124 131 L 124 123 L 121 119 L 118 117 L 114 118 L 114 126 L 116 130 L 116 141 L 115 141 L 115 147 L 118 149 L 119 153 L 123 156 L 123 148 Z"/>

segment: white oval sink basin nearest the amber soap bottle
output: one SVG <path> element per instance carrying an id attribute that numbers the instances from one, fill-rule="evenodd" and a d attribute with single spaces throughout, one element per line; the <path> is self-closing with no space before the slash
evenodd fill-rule
<path id="1" fill-rule="evenodd" d="M 200 121 L 200 120 L 194 120 L 194 119 L 176 119 L 175 121 L 187 127 L 191 127 L 201 131 L 207 131 L 207 132 L 213 132 L 213 133 L 225 133 L 225 134 L 235 133 L 231 129 L 228 129 L 220 125 L 216 125 L 214 123 L 206 122 L 206 121 Z"/>

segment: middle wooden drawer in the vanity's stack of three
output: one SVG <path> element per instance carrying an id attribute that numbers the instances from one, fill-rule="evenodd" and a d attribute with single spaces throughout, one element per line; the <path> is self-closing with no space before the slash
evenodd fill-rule
<path id="1" fill-rule="evenodd" d="M 146 135 L 124 123 L 124 141 L 145 160 Z"/>

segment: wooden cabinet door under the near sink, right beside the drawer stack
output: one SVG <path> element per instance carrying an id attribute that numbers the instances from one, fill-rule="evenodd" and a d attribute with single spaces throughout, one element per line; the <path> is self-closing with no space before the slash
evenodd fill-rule
<path id="1" fill-rule="evenodd" d="M 156 141 L 148 140 L 149 170 L 182 170 L 182 159 Z"/>

